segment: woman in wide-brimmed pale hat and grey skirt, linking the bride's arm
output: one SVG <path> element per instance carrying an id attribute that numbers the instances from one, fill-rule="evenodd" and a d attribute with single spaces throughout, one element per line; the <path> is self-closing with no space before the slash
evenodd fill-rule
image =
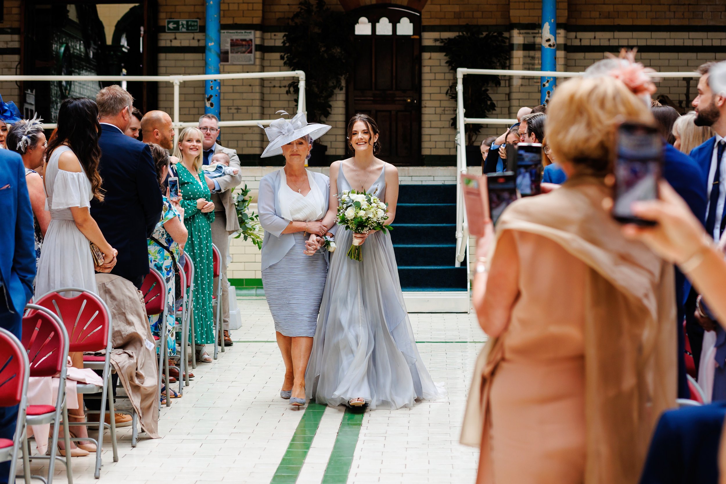
<path id="1" fill-rule="evenodd" d="M 285 166 L 260 181 L 262 285 L 285 361 L 280 396 L 293 406 L 305 404 L 305 370 L 327 275 L 327 253 L 317 250 L 315 237 L 327 233 L 321 220 L 330 205 L 330 183 L 322 173 L 306 170 L 305 161 L 312 140 L 328 129 L 308 124 L 302 113 L 265 128 L 270 143 L 262 156 L 282 154 Z"/>

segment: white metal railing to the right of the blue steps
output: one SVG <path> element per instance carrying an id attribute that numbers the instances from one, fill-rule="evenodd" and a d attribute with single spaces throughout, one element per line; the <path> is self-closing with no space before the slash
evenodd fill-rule
<path id="1" fill-rule="evenodd" d="M 550 72 L 542 70 L 505 70 L 505 69 L 467 69 L 460 67 L 456 70 L 457 103 L 456 103 L 456 145 L 457 145 L 457 190 L 456 190 L 456 258 L 455 265 L 461 266 L 466 260 L 469 267 L 469 228 L 464 210 L 464 197 L 461 186 L 461 173 L 466 173 L 466 141 L 464 139 L 465 124 L 501 124 L 510 126 L 517 122 L 510 118 L 465 118 L 464 116 L 464 76 L 465 75 L 510 75 L 520 77 L 555 77 L 574 78 L 584 73 Z M 700 74 L 689 72 L 650 73 L 653 78 L 698 78 Z M 468 287 L 468 284 L 467 284 Z"/>

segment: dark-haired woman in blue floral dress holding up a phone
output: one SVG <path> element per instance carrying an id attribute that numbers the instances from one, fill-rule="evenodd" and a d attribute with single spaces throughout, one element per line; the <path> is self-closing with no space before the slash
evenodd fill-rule
<path id="1" fill-rule="evenodd" d="M 159 184 L 166 179 L 169 166 L 169 152 L 158 144 L 150 144 L 151 155 L 154 159 Z M 163 207 L 159 223 L 149 237 L 149 265 L 155 268 L 166 281 L 166 347 L 170 355 L 176 355 L 176 340 L 174 339 L 174 260 L 181 258 L 184 244 L 187 242 L 187 227 L 184 226 L 184 208 L 179 206 L 179 200 L 169 200 L 162 197 Z M 172 258 L 172 255 L 174 258 Z M 159 321 L 160 314 L 149 316 L 151 331 L 155 336 L 161 336 L 163 323 Z"/>

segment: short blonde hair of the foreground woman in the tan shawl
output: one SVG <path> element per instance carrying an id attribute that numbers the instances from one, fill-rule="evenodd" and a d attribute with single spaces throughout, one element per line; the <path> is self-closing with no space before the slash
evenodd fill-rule
<path id="1" fill-rule="evenodd" d="M 649 107 L 621 81 L 572 78 L 558 85 L 547 105 L 547 144 L 558 161 L 603 177 L 613 171 L 616 130 L 624 121 L 654 126 Z"/>

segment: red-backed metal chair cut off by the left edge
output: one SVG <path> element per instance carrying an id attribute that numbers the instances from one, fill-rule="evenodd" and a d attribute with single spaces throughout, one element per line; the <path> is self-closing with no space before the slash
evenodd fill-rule
<path id="1" fill-rule="evenodd" d="M 10 461 L 11 483 L 15 482 L 17 452 L 23 446 L 25 483 L 30 484 L 28 438 L 25 437 L 29 366 L 28 355 L 20 341 L 7 329 L 0 328 L 0 406 L 18 406 L 15 435 L 12 440 L 0 438 L 0 462 Z"/>

